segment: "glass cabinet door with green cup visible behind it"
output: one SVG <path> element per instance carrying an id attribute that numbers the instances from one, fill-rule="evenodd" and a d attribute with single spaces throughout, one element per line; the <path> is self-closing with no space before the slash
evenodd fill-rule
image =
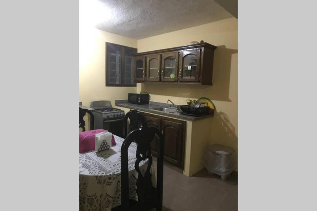
<path id="1" fill-rule="evenodd" d="M 161 81 L 177 81 L 178 52 L 162 54 Z"/>

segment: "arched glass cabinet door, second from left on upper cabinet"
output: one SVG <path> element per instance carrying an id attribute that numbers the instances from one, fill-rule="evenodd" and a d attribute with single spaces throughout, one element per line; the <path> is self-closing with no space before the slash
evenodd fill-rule
<path id="1" fill-rule="evenodd" d="M 160 54 L 147 56 L 146 80 L 160 81 Z"/>

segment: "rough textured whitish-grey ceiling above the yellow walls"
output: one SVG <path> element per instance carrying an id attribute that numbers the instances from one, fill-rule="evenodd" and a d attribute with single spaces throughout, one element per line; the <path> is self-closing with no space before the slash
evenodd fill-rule
<path id="1" fill-rule="evenodd" d="M 98 0 L 91 0 L 98 1 Z M 98 29 L 142 39 L 233 17 L 213 0 L 99 0 Z"/>

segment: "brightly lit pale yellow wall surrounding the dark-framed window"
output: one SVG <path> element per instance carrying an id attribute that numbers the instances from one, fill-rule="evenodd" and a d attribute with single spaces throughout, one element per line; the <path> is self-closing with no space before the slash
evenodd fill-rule
<path id="1" fill-rule="evenodd" d="M 95 28 L 81 28 L 79 43 L 79 101 L 89 107 L 91 101 L 127 99 L 136 87 L 106 87 L 106 42 L 137 47 L 137 40 Z"/>

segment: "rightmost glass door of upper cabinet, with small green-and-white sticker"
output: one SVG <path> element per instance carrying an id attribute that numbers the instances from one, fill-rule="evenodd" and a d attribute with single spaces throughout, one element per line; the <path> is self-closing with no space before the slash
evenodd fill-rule
<path id="1" fill-rule="evenodd" d="M 180 53 L 179 81 L 199 82 L 200 51 L 201 49 Z"/>

